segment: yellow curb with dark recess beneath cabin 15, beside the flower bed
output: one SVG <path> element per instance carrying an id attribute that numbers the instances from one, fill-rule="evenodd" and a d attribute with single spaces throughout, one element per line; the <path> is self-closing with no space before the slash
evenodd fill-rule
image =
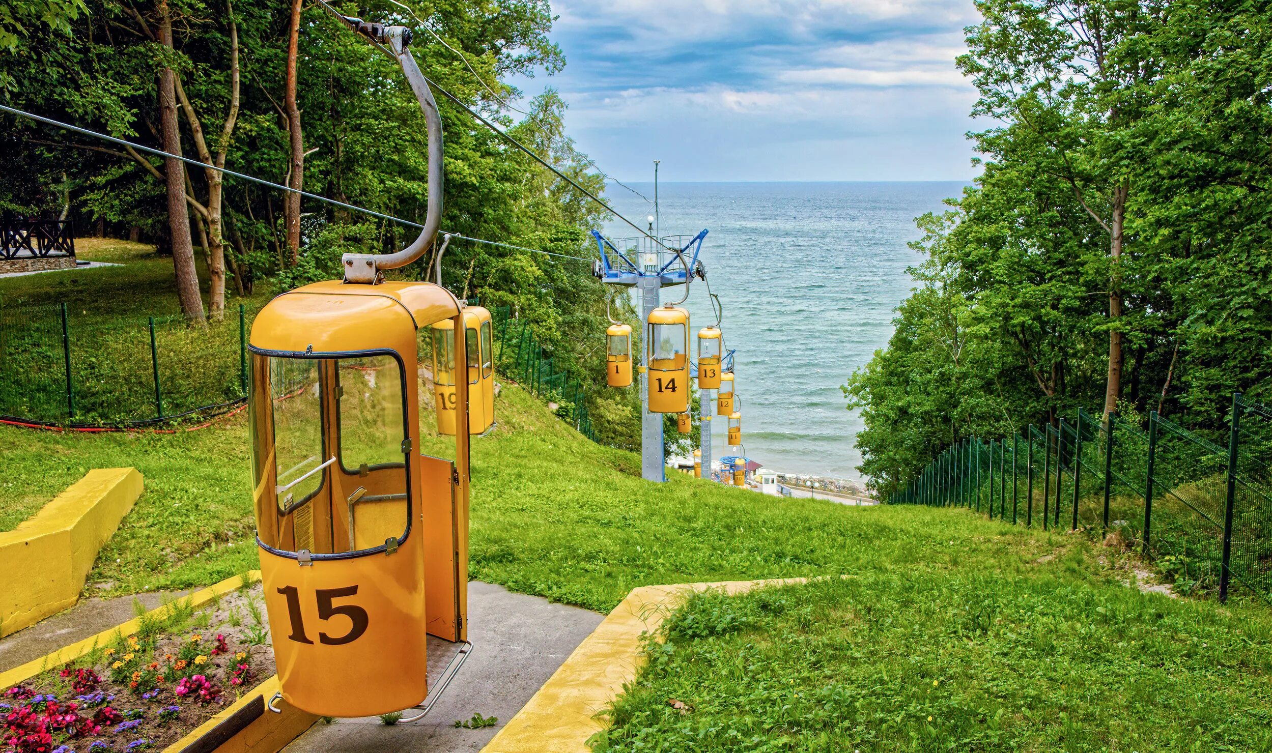
<path id="1" fill-rule="evenodd" d="M 299 738 L 301 733 L 313 726 L 318 717 L 307 711 L 300 711 L 286 701 L 279 701 L 282 714 L 273 714 L 265 706 L 270 698 L 279 692 L 279 675 L 273 675 L 257 687 L 243 694 L 238 701 L 226 706 L 216 716 L 195 728 L 184 738 L 164 748 L 164 753 L 182 753 L 188 747 L 200 743 L 198 750 L 216 750 L 216 753 L 248 753 L 251 750 L 268 752 L 281 750 L 284 745 Z M 238 715 L 243 724 L 238 724 L 233 717 Z M 226 724 L 229 729 L 224 738 L 216 729 Z M 204 736 L 209 740 L 204 740 Z"/>

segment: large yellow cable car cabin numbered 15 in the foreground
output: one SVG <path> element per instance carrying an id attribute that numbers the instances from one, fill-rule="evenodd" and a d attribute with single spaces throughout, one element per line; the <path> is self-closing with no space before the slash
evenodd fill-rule
<path id="1" fill-rule="evenodd" d="M 453 438 L 421 398 L 436 324 L 480 328 L 474 313 L 432 284 L 329 281 L 275 298 L 252 326 L 261 579 L 281 694 L 296 708 L 410 708 L 429 692 L 427 636 L 466 640 L 480 379 L 453 385 Z M 481 352 L 449 350 L 460 373 Z"/>

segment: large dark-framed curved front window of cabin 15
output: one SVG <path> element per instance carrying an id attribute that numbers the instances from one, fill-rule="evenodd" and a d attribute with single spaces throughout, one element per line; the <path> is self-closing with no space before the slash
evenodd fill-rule
<path id="1" fill-rule="evenodd" d="M 314 557 L 384 551 L 410 533 L 404 383 L 389 352 L 252 354 L 257 538 Z"/>

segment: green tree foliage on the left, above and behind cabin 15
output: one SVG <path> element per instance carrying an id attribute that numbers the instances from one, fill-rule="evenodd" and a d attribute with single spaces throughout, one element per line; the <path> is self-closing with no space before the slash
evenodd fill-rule
<path id="1" fill-rule="evenodd" d="M 224 0 L 169 0 L 172 50 L 158 43 L 150 28 L 158 5 L 155 0 L 46 0 L 8 6 L 0 14 L 0 95 L 13 107 L 158 148 L 156 80 L 170 67 L 190 103 L 179 108 L 186 155 L 216 158 L 224 150 L 226 168 L 286 184 L 291 150 L 284 81 L 291 4 L 240 1 L 230 9 Z M 552 74 L 565 65 L 548 38 L 553 17 L 547 0 L 412 0 L 410 10 L 388 0 L 336 5 L 366 20 L 412 27 L 413 53 L 431 80 L 499 122 L 588 191 L 604 190 L 602 176 L 589 172 L 586 158 L 565 134 L 563 100 L 548 90 L 525 102 L 501 83 L 516 74 Z M 235 36 L 240 92 L 234 128 L 224 137 L 223 122 L 233 111 Z M 425 125 L 397 64 L 312 5 L 301 15 L 298 41 L 304 188 L 422 223 Z M 441 228 L 508 244 L 454 239 L 443 259 L 444 282 L 487 307 L 511 307 L 530 322 L 544 355 L 579 382 L 597 384 L 604 373 L 600 343 L 608 323 L 603 286 L 584 261 L 511 247 L 594 256 L 586 231 L 599 226 L 602 211 L 468 113 L 438 99 L 445 130 Z M 520 120 L 514 120 L 508 113 L 515 111 L 500 100 L 518 103 L 529 114 L 516 113 Z M 192 123 L 198 121 L 206 153 L 196 149 Z M 97 225 L 168 248 L 167 206 L 156 179 L 164 169 L 162 160 L 10 116 L 0 117 L 0 163 L 6 174 L 22 176 L 0 184 L 0 209 L 57 214 L 69 205 L 81 230 Z M 210 229 L 210 212 L 196 206 L 209 206 L 212 186 L 206 173 L 195 165 L 186 169 L 196 244 Z M 258 281 L 282 287 L 338 277 L 342 249 L 396 251 L 417 233 L 305 200 L 303 247 L 293 262 L 282 200 L 277 190 L 226 178 L 221 214 L 226 273 L 233 280 L 226 295 L 251 291 Z M 211 245 L 216 247 L 215 233 Z M 402 275 L 421 279 L 431 270 L 435 252 Z M 207 294 L 209 281 L 200 282 Z M 215 313 L 221 294 L 216 289 L 211 294 Z M 631 431 L 618 424 L 632 413 L 631 397 L 598 392 L 593 402 L 591 412 L 611 418 L 602 425 L 612 424 L 609 436 L 623 444 Z"/>

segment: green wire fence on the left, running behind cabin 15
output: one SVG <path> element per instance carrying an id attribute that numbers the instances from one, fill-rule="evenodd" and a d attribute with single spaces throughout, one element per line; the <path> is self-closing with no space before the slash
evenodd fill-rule
<path id="1" fill-rule="evenodd" d="M 0 308 L 0 418 L 73 427 L 141 426 L 215 413 L 247 396 L 244 305 L 224 321 L 182 317 L 100 322 L 66 304 Z M 499 373 L 558 403 L 557 415 L 597 440 L 588 393 L 543 357 L 529 324 L 492 312 Z"/>

